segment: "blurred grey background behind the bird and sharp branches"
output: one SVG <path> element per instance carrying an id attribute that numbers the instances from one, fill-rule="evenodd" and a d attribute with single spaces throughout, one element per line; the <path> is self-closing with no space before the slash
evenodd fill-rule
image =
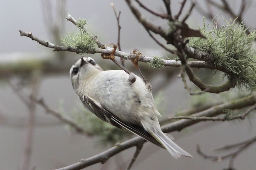
<path id="1" fill-rule="evenodd" d="M 85 18 L 89 23 L 87 30 L 97 35 L 103 43 L 116 43 L 117 23 L 111 2 L 115 5 L 116 11 L 122 12 L 120 41 L 124 52 L 129 53 L 133 49 L 139 49 L 143 55 L 170 56 L 148 36 L 124 1 L 10 0 L 1 2 L 0 169 L 19 169 L 22 162 L 28 161 L 24 160 L 24 155 L 30 152 L 28 169 L 60 168 L 100 153 L 116 142 L 111 139 L 108 143 L 104 139 L 104 144 L 102 144 L 100 140 L 103 140 L 104 135 L 109 134 L 101 134 L 102 137 L 78 133 L 60 119 L 46 114 L 44 108 L 28 102 L 30 101 L 29 95 L 33 94 L 38 99 L 44 99 L 49 108 L 71 120 L 80 120 L 80 124 L 81 120 L 85 119 L 86 123 L 91 120 L 86 117 L 83 119 L 76 117 L 75 114 L 77 110 L 81 111 L 80 114 L 86 112 L 81 108 L 69 78 L 70 66 L 80 55 L 71 52 L 52 52 L 52 49 L 45 48 L 27 37 L 20 37 L 18 31 L 31 31 L 33 35 L 45 41 L 61 45 L 60 37 L 65 37 L 68 31 L 77 29 L 71 22 L 65 20 L 66 14 L 70 13 L 75 19 Z M 160 13 L 165 11 L 162 1 L 143 0 L 141 2 Z M 205 2 L 198 0 L 197 4 L 207 12 L 210 4 Z M 216 2 L 220 1 L 216 0 Z M 240 9 L 241 1 L 230 0 L 228 2 L 233 11 Z M 184 11 L 188 10 L 189 4 L 188 1 Z M 177 13 L 180 8 L 179 1 L 172 1 L 171 8 L 173 13 Z M 210 6 L 210 9 L 213 16 L 222 17 L 223 15 L 226 19 L 232 18 L 216 7 Z M 252 28 L 256 25 L 255 9 L 256 2 L 252 1 L 243 15 L 243 21 Z M 144 10 L 141 11 L 151 22 L 163 27 L 167 26 L 163 20 Z M 194 28 L 202 26 L 204 15 L 202 13 L 200 9 L 194 9 L 187 20 L 188 25 Z M 206 17 L 206 23 L 211 23 L 211 19 Z M 86 56 L 92 56 L 104 70 L 118 69 L 113 62 L 102 60 L 99 54 Z M 119 58 L 116 58 L 119 61 Z M 130 61 L 125 61 L 125 65 L 138 75 Z M 245 90 L 233 89 L 220 96 L 214 94 L 190 96 L 184 89 L 181 79 L 177 78 L 179 68 L 165 67 L 157 70 L 147 63 L 140 63 L 140 68 L 152 84 L 156 102 L 160 103 L 157 107 L 163 117 L 200 107 L 202 103 L 224 102 L 234 95 L 249 93 Z M 222 81 L 220 73 L 213 76 L 214 70 L 195 69 L 195 71 L 210 84 L 217 85 Z M 189 85 L 193 87 L 191 83 Z M 197 88 L 195 90 L 198 91 Z M 175 142 L 191 153 L 194 156 L 193 159 L 173 159 L 167 151 L 146 143 L 132 169 L 223 169 L 228 167 L 228 161 L 205 160 L 197 154 L 196 144 L 199 144 L 206 153 L 212 153 L 211 151 L 215 148 L 244 141 L 255 136 L 254 121 L 254 117 L 251 116 L 243 121 L 235 122 L 201 122 L 181 132 L 172 133 Z M 132 136 L 128 135 L 123 140 L 129 137 Z M 118 137 L 117 139 L 119 140 Z M 124 169 L 132 158 L 134 150 L 135 148 L 131 148 L 110 158 L 105 164 L 96 164 L 88 169 Z M 243 170 L 255 169 L 255 151 L 256 145 L 243 152 L 236 159 L 235 167 Z"/>

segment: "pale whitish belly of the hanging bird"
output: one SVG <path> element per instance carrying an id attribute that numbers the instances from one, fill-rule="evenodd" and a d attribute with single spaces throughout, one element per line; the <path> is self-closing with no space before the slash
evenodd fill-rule
<path id="1" fill-rule="evenodd" d="M 137 76 L 134 83 L 123 70 L 102 71 L 92 77 L 94 81 L 86 85 L 86 95 L 99 101 L 113 114 L 127 122 L 140 122 L 141 116 L 157 116 L 152 93 L 143 80 Z M 94 113 L 97 114 L 97 113 Z"/>

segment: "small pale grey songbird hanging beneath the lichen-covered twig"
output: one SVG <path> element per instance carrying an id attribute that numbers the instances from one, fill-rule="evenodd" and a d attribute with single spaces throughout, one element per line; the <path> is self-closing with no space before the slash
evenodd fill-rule
<path id="1" fill-rule="evenodd" d="M 91 57 L 76 60 L 69 73 L 84 107 L 101 120 L 167 149 L 174 158 L 192 157 L 162 132 L 150 85 L 140 77 L 103 71 Z"/>

